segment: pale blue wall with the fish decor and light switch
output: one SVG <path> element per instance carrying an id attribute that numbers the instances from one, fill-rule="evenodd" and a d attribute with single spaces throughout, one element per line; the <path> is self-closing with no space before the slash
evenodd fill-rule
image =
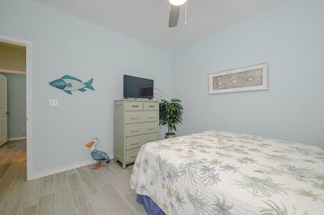
<path id="1" fill-rule="evenodd" d="M 123 74 L 170 88 L 170 52 L 31 0 L 0 0 L 0 34 L 32 42 L 33 172 L 90 160 L 86 143 L 113 154 L 113 100 L 123 98 Z M 71 75 L 93 78 L 95 91 L 54 88 Z M 167 74 L 167 75 L 166 75 Z M 49 99 L 58 99 L 50 107 Z"/>

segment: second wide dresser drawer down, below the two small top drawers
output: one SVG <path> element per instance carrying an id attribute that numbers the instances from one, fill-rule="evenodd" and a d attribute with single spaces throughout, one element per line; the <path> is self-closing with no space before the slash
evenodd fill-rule
<path id="1" fill-rule="evenodd" d="M 126 136 L 134 136 L 140 134 L 148 134 L 157 132 L 158 122 L 148 122 L 148 123 L 133 123 L 126 125 Z"/>

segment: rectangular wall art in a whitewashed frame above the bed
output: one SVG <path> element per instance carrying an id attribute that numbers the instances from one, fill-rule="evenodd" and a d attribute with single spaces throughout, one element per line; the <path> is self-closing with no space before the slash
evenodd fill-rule
<path id="1" fill-rule="evenodd" d="M 209 94 L 269 89 L 269 62 L 208 75 Z"/>

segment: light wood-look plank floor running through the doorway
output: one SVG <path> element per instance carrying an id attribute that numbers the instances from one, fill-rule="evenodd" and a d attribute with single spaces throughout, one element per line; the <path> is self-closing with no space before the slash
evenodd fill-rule
<path id="1" fill-rule="evenodd" d="M 26 181 L 26 141 L 0 147 L 0 214 L 147 214 L 136 201 L 126 170 L 110 160 Z"/>

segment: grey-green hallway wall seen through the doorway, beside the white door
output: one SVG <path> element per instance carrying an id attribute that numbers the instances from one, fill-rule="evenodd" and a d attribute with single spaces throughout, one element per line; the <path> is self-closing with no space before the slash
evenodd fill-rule
<path id="1" fill-rule="evenodd" d="M 1 74 L 7 77 L 8 138 L 26 137 L 26 76 Z"/>

